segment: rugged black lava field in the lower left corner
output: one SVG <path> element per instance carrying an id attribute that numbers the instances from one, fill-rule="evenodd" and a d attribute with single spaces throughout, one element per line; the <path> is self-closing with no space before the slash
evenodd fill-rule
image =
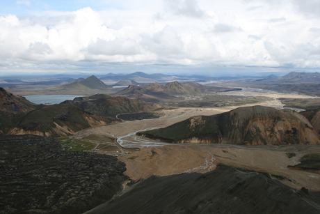
<path id="1" fill-rule="evenodd" d="M 65 152 L 55 139 L 0 137 L 0 213 L 82 213 L 122 189 L 125 164 Z"/>

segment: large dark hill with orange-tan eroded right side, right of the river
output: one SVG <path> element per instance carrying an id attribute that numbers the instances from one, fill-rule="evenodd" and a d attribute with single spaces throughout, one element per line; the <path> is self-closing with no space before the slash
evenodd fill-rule
<path id="1" fill-rule="evenodd" d="M 281 145 L 320 144 L 310 122 L 292 110 L 241 107 L 212 116 L 194 116 L 167 128 L 138 132 L 170 143 Z"/>

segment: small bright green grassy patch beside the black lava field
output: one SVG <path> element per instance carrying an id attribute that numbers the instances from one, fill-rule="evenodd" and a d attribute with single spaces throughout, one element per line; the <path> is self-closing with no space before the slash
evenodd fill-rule
<path id="1" fill-rule="evenodd" d="M 95 148 L 96 144 L 85 142 L 78 139 L 61 139 L 59 143 L 63 146 L 65 151 L 85 151 Z"/>

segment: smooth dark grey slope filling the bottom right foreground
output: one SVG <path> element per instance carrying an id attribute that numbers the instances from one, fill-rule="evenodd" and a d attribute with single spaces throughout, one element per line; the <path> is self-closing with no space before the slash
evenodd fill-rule
<path id="1" fill-rule="evenodd" d="M 218 166 L 207 174 L 152 176 L 86 214 L 319 213 L 319 199 L 258 172 Z"/>

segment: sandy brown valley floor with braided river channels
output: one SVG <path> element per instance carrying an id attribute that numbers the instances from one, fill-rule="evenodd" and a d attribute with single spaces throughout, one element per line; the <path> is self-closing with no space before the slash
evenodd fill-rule
<path id="1" fill-rule="evenodd" d="M 241 92 L 239 92 L 241 93 Z M 257 92 L 260 93 L 260 92 Z M 250 92 L 250 95 L 256 95 Z M 263 93 L 274 98 L 259 105 L 282 108 L 276 98 L 310 98 L 303 95 L 284 95 L 280 93 Z M 246 105 L 248 106 L 248 105 Z M 159 119 L 143 121 L 125 121 L 114 125 L 82 130 L 74 134 L 81 139 L 90 135 L 113 137 L 115 141 L 108 143 L 111 149 L 99 149 L 97 153 L 118 156 L 125 162 L 125 174 L 134 181 L 152 175 L 167 176 L 184 172 L 207 172 L 216 168 L 219 163 L 241 167 L 248 170 L 262 171 L 292 188 L 305 187 L 311 191 L 320 191 L 320 174 L 287 169 L 288 165 L 296 165 L 307 153 L 320 153 L 320 145 L 288 145 L 288 146 L 234 146 L 215 144 L 165 144 L 136 136 L 136 132 L 161 128 L 191 116 L 213 115 L 235 109 L 234 107 L 214 108 L 173 108 L 163 109 Z M 243 106 L 241 106 L 243 107 Z M 101 141 L 92 141 L 100 144 Z M 294 153 L 294 157 L 289 154 Z"/>

